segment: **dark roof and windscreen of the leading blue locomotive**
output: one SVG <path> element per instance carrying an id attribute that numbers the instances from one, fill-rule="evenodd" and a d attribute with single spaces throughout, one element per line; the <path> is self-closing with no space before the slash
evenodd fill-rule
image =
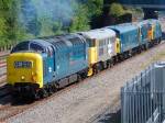
<path id="1" fill-rule="evenodd" d="M 78 34 L 67 34 L 61 36 L 47 36 L 37 40 L 29 40 L 19 43 L 13 47 L 11 53 L 20 51 L 36 51 L 46 52 L 50 46 L 55 46 L 56 48 L 66 48 L 67 46 L 73 46 L 74 44 L 84 43 L 85 40 Z"/>

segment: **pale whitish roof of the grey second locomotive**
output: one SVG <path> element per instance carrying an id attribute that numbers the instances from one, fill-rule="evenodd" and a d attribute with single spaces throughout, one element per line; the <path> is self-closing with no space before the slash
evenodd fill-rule
<path id="1" fill-rule="evenodd" d="M 82 32 L 81 34 L 87 36 L 88 38 L 97 38 L 97 40 L 103 40 L 116 36 L 116 32 L 109 29 L 91 30 L 88 32 Z"/>

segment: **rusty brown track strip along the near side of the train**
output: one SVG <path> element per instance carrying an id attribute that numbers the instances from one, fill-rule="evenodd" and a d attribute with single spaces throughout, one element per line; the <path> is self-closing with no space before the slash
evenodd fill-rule
<path id="1" fill-rule="evenodd" d="M 140 55 L 140 54 L 138 54 L 138 55 Z M 125 59 L 125 60 L 123 60 L 123 62 L 131 60 L 132 58 L 133 58 L 133 57 L 128 58 L 128 59 Z M 121 62 L 121 63 L 123 63 L 123 62 Z M 113 66 L 113 67 L 117 67 L 118 65 L 120 65 L 120 63 L 117 63 L 116 66 Z M 107 70 L 110 70 L 110 69 L 112 69 L 112 68 L 105 69 L 105 70 L 102 70 L 101 72 L 99 72 L 99 74 L 97 74 L 97 75 L 95 75 L 95 76 L 92 76 L 92 77 L 96 77 L 96 76 L 99 76 L 99 75 L 101 75 L 101 74 L 105 74 L 105 72 L 107 72 Z M 47 103 L 47 102 L 48 102 L 50 100 L 52 100 L 54 97 L 55 97 L 55 98 L 58 98 L 62 93 L 64 94 L 64 93 L 70 91 L 72 89 L 77 88 L 77 87 L 80 86 L 82 82 L 86 82 L 86 81 L 90 80 L 92 77 L 86 78 L 85 80 L 82 80 L 82 81 L 80 81 L 80 82 L 76 82 L 76 83 L 74 83 L 74 85 L 70 85 L 70 86 L 68 86 L 67 88 L 61 89 L 59 91 L 55 92 L 55 93 L 52 94 L 51 97 L 47 97 L 47 98 L 45 98 L 45 99 L 35 101 L 35 102 L 33 102 L 33 103 L 30 103 L 30 104 L 23 104 L 23 103 L 20 104 L 20 103 L 19 103 L 19 104 L 13 104 L 13 105 L 12 105 L 12 104 L 11 104 L 11 105 L 7 105 L 7 107 L 0 109 L 0 114 L 3 113 L 3 115 L 0 115 L 0 121 L 3 122 L 3 121 L 6 121 L 6 120 L 10 119 L 11 116 L 14 116 L 14 115 L 16 115 L 16 114 L 19 114 L 19 113 L 22 113 L 23 111 L 25 111 L 25 110 L 28 110 L 28 109 L 30 109 L 30 108 L 33 109 L 33 107 L 35 107 L 35 105 L 37 105 L 37 104 Z"/>

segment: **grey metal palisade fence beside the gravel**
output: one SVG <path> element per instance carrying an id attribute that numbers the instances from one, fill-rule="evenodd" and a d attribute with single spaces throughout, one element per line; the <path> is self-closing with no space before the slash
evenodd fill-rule
<path id="1" fill-rule="evenodd" d="M 122 123 L 165 123 L 165 63 L 155 63 L 121 88 Z"/>

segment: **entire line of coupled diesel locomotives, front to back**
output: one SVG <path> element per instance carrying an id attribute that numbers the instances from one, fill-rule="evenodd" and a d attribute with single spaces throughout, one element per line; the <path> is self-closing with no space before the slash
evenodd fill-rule
<path id="1" fill-rule="evenodd" d="M 13 93 L 44 98 L 158 44 L 161 23 L 145 20 L 18 44 L 7 58 Z"/>

